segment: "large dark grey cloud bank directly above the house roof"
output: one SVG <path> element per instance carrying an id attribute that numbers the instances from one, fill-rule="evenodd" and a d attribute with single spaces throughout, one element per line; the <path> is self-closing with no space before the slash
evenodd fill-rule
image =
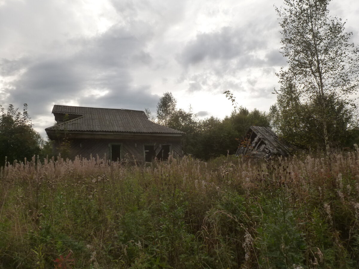
<path id="1" fill-rule="evenodd" d="M 159 96 L 149 85 L 133 86 L 131 66 L 150 65 L 145 51 L 149 34 L 135 37 L 115 26 L 101 36 L 77 40 L 83 44 L 71 57 L 38 57 L 29 61 L 3 60 L 2 73 L 24 74 L 5 89 L 6 101 L 20 106 L 28 103 L 33 118 L 50 115 L 52 103 L 77 102 L 79 105 L 143 110 L 155 108 Z M 11 86 L 11 87 L 10 87 Z M 102 96 L 92 91 L 107 92 Z"/>

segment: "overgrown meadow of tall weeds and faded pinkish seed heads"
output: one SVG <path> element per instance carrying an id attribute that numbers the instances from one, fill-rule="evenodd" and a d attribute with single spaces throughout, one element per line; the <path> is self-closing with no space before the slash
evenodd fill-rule
<path id="1" fill-rule="evenodd" d="M 0 171 L 0 268 L 358 268 L 359 150 Z"/>

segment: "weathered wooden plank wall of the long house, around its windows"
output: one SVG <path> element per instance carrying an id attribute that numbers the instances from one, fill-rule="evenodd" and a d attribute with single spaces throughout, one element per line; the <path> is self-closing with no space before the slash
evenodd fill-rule
<path id="1" fill-rule="evenodd" d="M 167 139 L 93 139 L 93 138 L 74 138 L 70 141 L 70 154 L 69 158 L 74 159 L 75 156 L 81 156 L 84 158 L 96 157 L 105 158 L 109 160 L 111 158 L 111 144 L 121 144 L 121 159 L 128 159 L 133 161 L 144 161 L 144 145 L 154 145 L 155 152 L 161 150 L 162 145 L 171 145 L 171 152 L 173 156 L 183 156 L 181 139 L 179 138 L 167 138 Z M 59 143 L 55 142 L 53 145 L 54 154 L 58 155 L 60 148 Z"/>

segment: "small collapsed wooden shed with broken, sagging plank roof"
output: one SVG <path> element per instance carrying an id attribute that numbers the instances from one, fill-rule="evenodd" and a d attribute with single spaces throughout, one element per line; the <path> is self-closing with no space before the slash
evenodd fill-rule
<path id="1" fill-rule="evenodd" d="M 242 138 L 236 156 L 268 158 L 271 156 L 288 156 L 291 151 L 291 147 L 270 128 L 251 126 Z"/>

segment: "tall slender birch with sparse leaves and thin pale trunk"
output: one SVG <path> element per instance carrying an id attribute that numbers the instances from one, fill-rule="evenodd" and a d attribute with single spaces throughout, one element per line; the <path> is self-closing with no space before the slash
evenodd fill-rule
<path id="1" fill-rule="evenodd" d="M 351 97 L 359 86 L 358 47 L 349 42 L 352 33 L 345 32 L 345 22 L 329 14 L 329 2 L 285 0 L 276 8 L 282 27 L 281 53 L 288 57 L 288 68 L 282 67 L 278 74 L 279 98 L 295 95 L 297 104 L 317 106 L 311 117 L 320 123 L 327 154 L 333 101 L 354 106 Z"/>

